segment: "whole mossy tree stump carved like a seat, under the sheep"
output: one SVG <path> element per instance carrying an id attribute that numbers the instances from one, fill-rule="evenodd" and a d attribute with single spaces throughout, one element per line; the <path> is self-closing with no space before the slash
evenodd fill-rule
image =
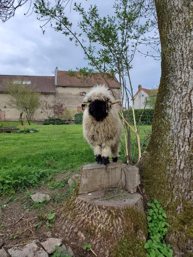
<path id="1" fill-rule="evenodd" d="M 129 192 L 136 191 L 139 183 L 136 170 L 120 163 L 108 167 L 83 166 L 79 191 L 63 210 L 60 234 L 81 248 L 85 243 L 91 244 L 100 257 L 145 257 L 147 228 L 143 199 L 140 194 Z"/>

